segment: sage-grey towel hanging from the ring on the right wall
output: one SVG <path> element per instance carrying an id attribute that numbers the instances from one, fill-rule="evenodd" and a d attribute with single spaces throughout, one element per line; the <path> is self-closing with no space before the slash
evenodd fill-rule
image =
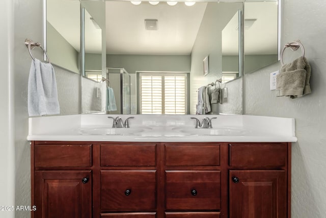
<path id="1" fill-rule="evenodd" d="M 290 96 L 291 99 L 311 93 L 311 66 L 306 58 L 300 57 L 281 67 L 276 76 L 276 96 Z"/>

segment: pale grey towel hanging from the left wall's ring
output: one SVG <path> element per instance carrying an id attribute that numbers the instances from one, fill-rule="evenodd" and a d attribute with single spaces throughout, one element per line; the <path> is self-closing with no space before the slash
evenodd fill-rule
<path id="1" fill-rule="evenodd" d="M 32 60 L 30 68 L 28 111 L 30 116 L 60 113 L 55 70 L 38 59 Z"/>

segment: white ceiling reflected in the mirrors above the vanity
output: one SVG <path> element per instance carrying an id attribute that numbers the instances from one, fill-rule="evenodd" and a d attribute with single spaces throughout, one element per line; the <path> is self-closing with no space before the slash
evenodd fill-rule
<path id="1" fill-rule="evenodd" d="M 245 30 L 245 54 L 276 54 L 277 2 L 276 0 L 253 1 L 256 0 L 244 3 L 244 18 L 257 19 L 249 30 Z M 78 1 L 47 0 L 47 20 L 79 51 L 80 30 L 77 24 L 79 5 L 76 4 L 79 4 Z M 166 2 L 160 2 L 153 6 L 148 2 L 142 2 L 141 5 L 136 6 L 128 1 L 106 1 L 106 52 L 107 54 L 191 54 L 206 5 L 205 2 L 197 2 L 189 7 L 179 2 L 175 6 L 169 6 Z M 158 31 L 146 31 L 145 19 L 157 19 Z M 230 35 L 235 37 L 236 17 L 233 17 L 230 23 L 235 24 L 228 25 L 226 29 L 229 30 L 224 32 L 233 31 Z M 226 38 L 231 40 L 231 37 Z M 223 41 L 225 40 L 224 38 Z M 235 43 L 226 43 L 223 46 L 225 54 L 234 54 L 236 51 Z"/>

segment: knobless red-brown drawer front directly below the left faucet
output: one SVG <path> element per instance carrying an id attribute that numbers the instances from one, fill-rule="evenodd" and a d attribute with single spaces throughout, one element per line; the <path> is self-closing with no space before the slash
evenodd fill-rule
<path id="1" fill-rule="evenodd" d="M 155 166 L 156 144 L 101 144 L 101 166 Z"/>

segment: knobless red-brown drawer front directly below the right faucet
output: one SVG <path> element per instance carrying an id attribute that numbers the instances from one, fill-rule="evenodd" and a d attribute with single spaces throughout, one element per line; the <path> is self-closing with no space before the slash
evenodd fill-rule
<path id="1" fill-rule="evenodd" d="M 220 145 L 165 146 L 167 166 L 214 166 L 220 165 Z"/>

